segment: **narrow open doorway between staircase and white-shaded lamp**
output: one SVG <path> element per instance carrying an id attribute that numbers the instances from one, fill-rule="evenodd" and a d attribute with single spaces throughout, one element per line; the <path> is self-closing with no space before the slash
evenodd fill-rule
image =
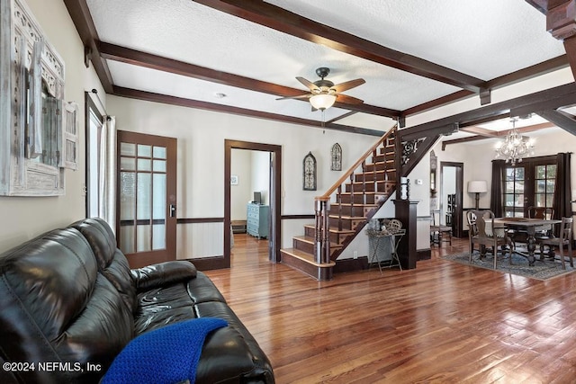
<path id="1" fill-rule="evenodd" d="M 440 162 L 440 223 L 452 227 L 452 236 L 464 237 L 464 163 Z"/>

